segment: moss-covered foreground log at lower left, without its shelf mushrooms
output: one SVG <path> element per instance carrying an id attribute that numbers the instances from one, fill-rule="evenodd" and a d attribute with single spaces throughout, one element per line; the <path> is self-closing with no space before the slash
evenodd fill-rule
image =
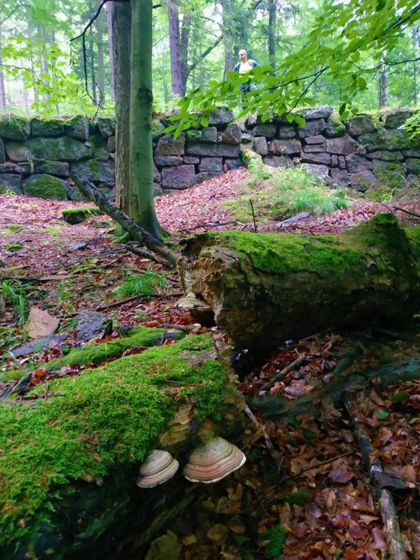
<path id="1" fill-rule="evenodd" d="M 244 407 L 208 334 L 51 380 L 27 396 L 0 402 L 0 556 L 7 559 L 87 550 L 102 558 L 130 522 L 146 532 L 156 501 L 190 484 L 177 473 L 165 489 L 137 488 L 147 452 L 158 446 L 182 463 L 203 422 L 237 435 Z"/>

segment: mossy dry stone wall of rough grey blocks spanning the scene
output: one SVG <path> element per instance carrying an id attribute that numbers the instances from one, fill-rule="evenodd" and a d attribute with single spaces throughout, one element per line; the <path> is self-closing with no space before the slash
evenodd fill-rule
<path id="1" fill-rule="evenodd" d="M 153 120 L 156 194 L 185 189 L 242 165 L 241 148 L 251 149 L 272 166 L 305 163 L 330 184 L 368 188 L 403 186 L 420 174 L 420 142 L 403 124 L 410 111 L 384 111 L 374 118 L 354 115 L 342 123 L 329 106 L 302 112 L 305 125 L 281 119 L 262 123 L 249 116 L 240 127 L 221 108 L 209 125 L 165 134 L 167 118 Z M 107 198 L 114 195 L 113 120 L 92 125 L 85 116 L 71 119 L 0 118 L 0 193 L 80 200 L 69 173 L 85 176 Z"/>

